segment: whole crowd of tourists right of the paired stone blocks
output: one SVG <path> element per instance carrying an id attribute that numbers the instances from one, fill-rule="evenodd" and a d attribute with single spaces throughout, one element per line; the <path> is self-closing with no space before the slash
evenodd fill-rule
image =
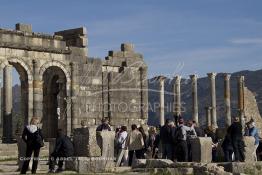
<path id="1" fill-rule="evenodd" d="M 191 139 L 196 137 L 211 137 L 212 139 L 212 161 L 218 161 L 218 145 L 224 152 L 225 162 L 244 161 L 245 143 L 243 136 L 255 138 L 254 159 L 257 160 L 256 150 L 259 145 L 258 129 L 251 119 L 243 134 L 239 117 L 235 117 L 231 126 L 228 127 L 223 139 L 217 136 L 216 128 L 208 127 L 202 129 L 195 121 L 185 122 L 179 117 L 177 122 L 167 119 L 165 125 L 159 128 L 150 127 L 148 134 L 145 134 L 143 127 L 131 126 L 128 134 L 126 126 L 116 130 L 116 152 L 122 157 L 122 165 L 131 165 L 133 155 L 136 158 L 163 158 L 178 162 L 192 161 Z M 147 132 L 147 131 L 146 131 Z M 124 152 L 124 153 L 123 153 Z M 121 153 L 123 155 L 121 155 Z M 221 161 L 221 160 L 220 160 Z"/>

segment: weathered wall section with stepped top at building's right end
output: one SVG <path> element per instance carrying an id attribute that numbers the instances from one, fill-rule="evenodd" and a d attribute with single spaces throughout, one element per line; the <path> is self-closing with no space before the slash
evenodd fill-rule
<path id="1" fill-rule="evenodd" d="M 113 125 L 147 123 L 147 66 L 132 44 L 109 51 L 102 77 L 104 116 Z"/>

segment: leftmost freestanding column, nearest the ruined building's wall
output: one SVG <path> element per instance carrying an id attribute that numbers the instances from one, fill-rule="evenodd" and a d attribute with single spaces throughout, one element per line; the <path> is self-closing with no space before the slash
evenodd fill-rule
<path id="1" fill-rule="evenodd" d="M 157 77 L 159 81 L 159 121 L 160 125 L 163 126 L 165 124 L 165 79 L 164 76 Z"/>

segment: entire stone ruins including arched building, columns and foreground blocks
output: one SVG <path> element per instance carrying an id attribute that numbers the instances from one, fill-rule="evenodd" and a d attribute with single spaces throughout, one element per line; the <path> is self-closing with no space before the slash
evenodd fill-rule
<path id="1" fill-rule="evenodd" d="M 75 157 L 66 168 L 85 172 L 110 171 L 115 167 L 114 131 L 96 131 L 102 118 L 109 118 L 112 128 L 119 125 L 146 125 L 148 119 L 147 65 L 134 45 L 121 44 L 120 51 L 109 51 L 104 60 L 88 56 L 87 30 L 84 27 L 55 32 L 35 33 L 31 25 L 16 24 L 15 30 L 0 29 L 0 67 L 3 70 L 3 137 L 5 143 L 14 140 L 12 126 L 12 67 L 21 81 L 21 113 L 24 124 L 33 117 L 41 119 L 43 134 L 54 147 L 56 131 L 62 129 L 72 137 Z M 210 106 L 206 107 L 206 126 L 218 128 L 216 104 L 216 73 L 208 73 Z M 165 79 L 159 81 L 159 123 L 165 121 Z M 192 119 L 199 121 L 198 77 L 190 75 L 192 88 Z M 174 77 L 173 113 L 182 114 L 181 76 Z M 232 122 L 230 74 L 224 75 L 225 130 Z M 238 115 L 244 123 L 253 118 L 260 130 L 262 119 L 256 100 L 238 78 Z M 252 162 L 254 138 L 244 138 L 246 160 Z M 19 156 L 23 156 L 19 134 Z M 239 164 L 211 163 L 212 140 L 198 137 L 190 140 L 194 163 L 174 163 L 169 160 L 137 160 L 133 169 L 169 171 L 180 174 L 239 173 Z M 48 154 L 47 154 L 48 155 Z M 255 164 L 255 163 L 254 163 Z M 21 162 L 20 162 L 21 165 Z M 259 169 L 261 166 L 256 164 Z M 158 169 L 155 169 L 158 168 Z M 242 167 L 243 168 L 243 167 Z M 244 166 L 245 168 L 245 166 Z M 161 170 L 162 171 L 162 170 Z M 244 170 L 243 170 L 244 171 Z M 242 171 L 241 171 L 242 172 Z M 260 170 L 256 171 L 260 172 Z"/>

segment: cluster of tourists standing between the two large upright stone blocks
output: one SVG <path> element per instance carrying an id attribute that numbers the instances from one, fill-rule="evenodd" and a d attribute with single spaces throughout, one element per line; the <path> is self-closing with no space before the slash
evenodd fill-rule
<path id="1" fill-rule="evenodd" d="M 130 133 L 126 126 L 116 129 L 116 152 L 118 158 L 122 158 L 122 165 L 132 165 L 133 155 L 138 159 L 144 158 L 167 158 L 177 161 L 188 161 L 191 158 L 190 144 L 188 138 L 197 137 L 201 133 L 196 123 L 189 121 L 184 124 L 183 118 L 179 119 L 176 126 L 171 120 L 166 120 L 161 128 L 150 127 L 144 131 L 142 126 L 133 124 Z M 148 134 L 147 134 L 148 133 Z M 162 156 L 160 156 L 160 151 Z"/>

